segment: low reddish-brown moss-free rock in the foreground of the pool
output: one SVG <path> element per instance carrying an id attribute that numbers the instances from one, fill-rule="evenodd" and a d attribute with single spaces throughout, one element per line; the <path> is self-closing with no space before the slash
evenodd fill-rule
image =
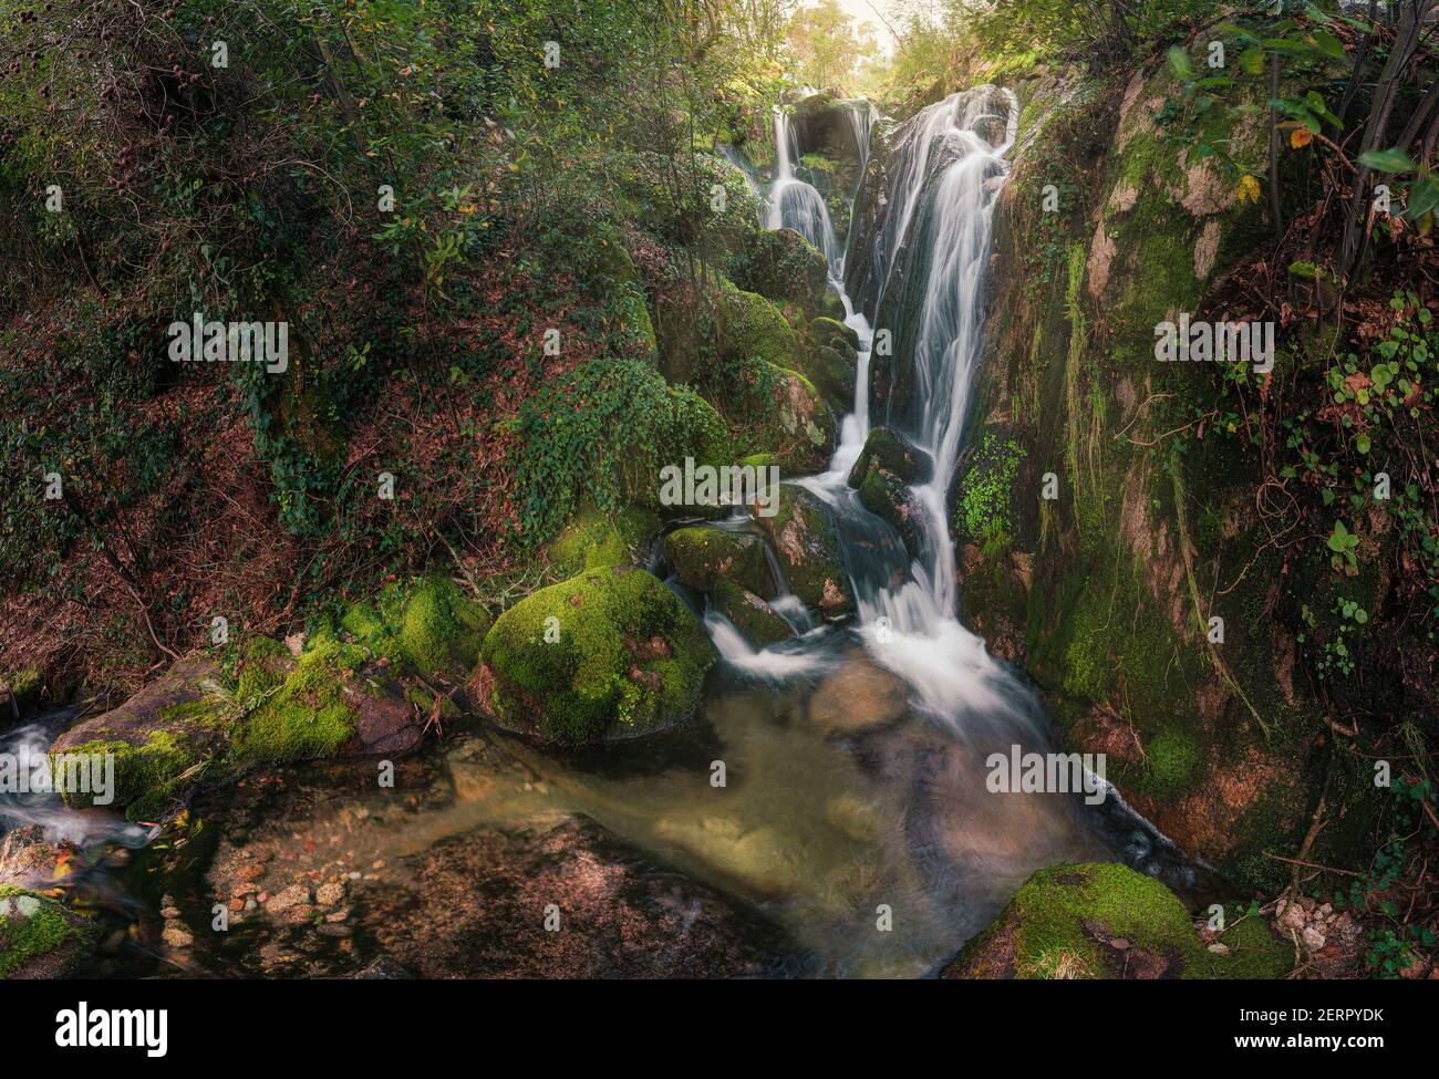
<path id="1" fill-rule="evenodd" d="M 364 922 L 426 978 L 763 977 L 787 948 L 760 915 L 653 866 L 587 819 L 476 830 L 407 859 L 406 870 Z"/>

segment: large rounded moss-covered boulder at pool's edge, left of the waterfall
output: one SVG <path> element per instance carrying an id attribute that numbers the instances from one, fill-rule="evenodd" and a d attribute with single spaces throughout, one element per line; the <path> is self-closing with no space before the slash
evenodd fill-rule
<path id="1" fill-rule="evenodd" d="M 583 745 L 688 719 L 714 649 L 659 578 L 603 567 L 507 610 L 481 657 L 476 693 L 496 724 Z"/>

